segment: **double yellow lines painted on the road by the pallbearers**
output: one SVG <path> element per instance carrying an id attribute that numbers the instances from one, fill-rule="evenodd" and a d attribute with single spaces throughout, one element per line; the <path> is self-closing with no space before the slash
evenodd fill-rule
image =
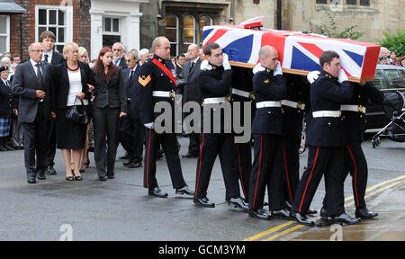
<path id="1" fill-rule="evenodd" d="M 390 184 L 390 185 L 387 185 L 387 186 L 385 186 L 385 187 L 383 187 L 383 188 L 381 188 L 381 189 L 378 189 L 378 190 L 376 190 L 376 191 L 374 191 L 374 192 L 368 193 L 367 195 L 365 195 L 365 199 L 370 198 L 370 197 L 374 196 L 375 194 L 377 194 L 377 193 L 379 193 L 379 192 L 383 192 L 383 191 L 385 191 L 385 190 L 387 190 L 387 189 L 389 189 L 389 188 L 392 188 L 392 187 L 394 187 L 394 186 L 396 186 L 396 185 L 398 185 L 398 184 L 400 184 L 400 183 L 403 183 L 403 181 L 401 181 L 402 179 L 405 179 L 405 174 L 404 174 L 404 175 L 401 175 L 401 176 L 399 176 L 399 177 L 396 177 L 396 178 L 394 178 L 394 179 L 384 181 L 384 182 L 382 182 L 382 183 L 377 183 L 377 184 L 373 185 L 372 187 L 367 188 L 367 189 L 365 190 L 365 192 L 370 192 L 370 191 L 373 191 L 374 189 L 376 189 L 376 188 L 378 188 L 378 187 L 380 187 L 380 186 L 383 186 L 384 184 L 392 183 L 392 182 L 397 181 L 397 182 L 392 183 L 392 184 Z M 346 202 L 346 201 L 350 201 L 351 199 L 354 199 L 354 196 L 353 196 L 353 195 L 350 196 L 350 197 L 348 197 L 347 199 L 345 199 L 345 202 Z M 355 204 L 355 201 L 346 203 L 346 204 L 345 204 L 345 207 L 348 207 L 348 206 L 353 205 L 353 204 Z M 318 210 L 318 212 L 320 212 L 320 210 Z M 269 234 L 275 233 L 276 231 L 278 231 L 278 230 L 280 230 L 280 229 L 282 229 L 282 228 L 288 227 L 288 226 L 292 225 L 293 223 L 296 223 L 296 222 L 295 222 L 295 221 L 288 221 L 288 222 L 286 222 L 286 223 L 284 223 L 284 224 L 278 225 L 278 226 L 276 226 L 276 227 L 274 227 L 274 228 L 270 228 L 270 229 L 268 229 L 268 230 L 266 230 L 266 231 L 264 231 L 264 232 L 261 232 L 261 233 L 255 235 L 255 236 L 247 237 L 247 238 L 244 239 L 243 241 L 255 241 L 255 240 L 257 240 L 257 239 L 259 239 L 259 238 L 261 238 L 261 237 L 266 237 L 266 236 L 269 235 Z M 291 233 L 291 232 L 293 232 L 293 231 L 295 231 L 295 230 L 297 230 L 297 229 L 303 228 L 303 227 L 305 227 L 305 226 L 304 226 L 304 225 L 295 225 L 295 226 L 293 226 L 292 228 L 287 228 L 287 229 L 285 229 L 283 232 L 277 233 L 277 234 L 275 234 L 275 235 L 272 236 L 272 237 L 268 237 L 268 238 L 264 239 L 263 241 L 272 241 L 272 240 L 275 240 L 275 238 L 285 236 L 285 235 L 287 235 L 287 234 L 289 234 L 289 233 Z"/>

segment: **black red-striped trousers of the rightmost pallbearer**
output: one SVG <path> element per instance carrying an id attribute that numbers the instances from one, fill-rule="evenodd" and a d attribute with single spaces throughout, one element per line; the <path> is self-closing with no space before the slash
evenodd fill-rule
<path id="1" fill-rule="evenodd" d="M 345 147 L 345 165 L 343 174 L 345 179 L 347 174 L 352 176 L 353 196 L 357 209 L 365 208 L 365 189 L 367 187 L 368 168 L 365 160 L 365 153 L 361 142 L 352 142 Z M 323 201 L 323 206 L 327 209 L 327 197 Z"/>

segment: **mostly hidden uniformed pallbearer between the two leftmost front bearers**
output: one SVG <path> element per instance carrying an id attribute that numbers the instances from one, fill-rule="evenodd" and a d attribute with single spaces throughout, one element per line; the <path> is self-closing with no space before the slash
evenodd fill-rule
<path id="1" fill-rule="evenodd" d="M 240 103 L 240 125 L 245 125 L 246 123 L 251 124 L 253 117 L 255 116 L 256 107 L 255 105 L 255 94 L 253 94 L 253 84 L 252 84 L 252 69 L 244 67 L 232 67 L 232 90 L 231 90 L 231 100 L 232 103 Z M 244 109 L 250 103 L 250 118 L 245 117 Z M 235 105 L 232 107 L 232 112 L 236 112 Z M 233 118 L 233 117 L 232 117 Z M 248 119 L 248 121 L 247 121 Z M 235 132 L 235 134 L 242 135 Z M 235 148 L 237 151 L 237 167 L 238 167 L 238 177 L 239 182 L 242 187 L 242 192 L 245 197 L 245 201 L 248 201 L 249 196 L 249 180 L 250 171 L 252 170 L 252 139 L 246 143 L 236 143 Z"/>

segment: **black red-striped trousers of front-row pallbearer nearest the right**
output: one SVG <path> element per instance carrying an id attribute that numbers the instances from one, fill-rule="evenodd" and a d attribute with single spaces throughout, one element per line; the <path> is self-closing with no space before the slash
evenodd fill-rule
<path id="1" fill-rule="evenodd" d="M 343 147 L 309 147 L 308 165 L 295 193 L 293 212 L 308 212 L 322 175 L 325 175 L 328 216 L 338 216 L 345 212 L 344 155 Z"/>

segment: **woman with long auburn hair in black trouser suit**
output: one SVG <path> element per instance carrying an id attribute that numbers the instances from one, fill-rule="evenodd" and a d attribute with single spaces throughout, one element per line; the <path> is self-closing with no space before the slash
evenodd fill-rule
<path id="1" fill-rule="evenodd" d="M 101 181 L 114 178 L 119 118 L 127 115 L 122 70 L 112 64 L 112 50 L 103 48 L 94 66 L 94 161 Z M 105 157 L 107 150 L 107 157 Z M 107 168 L 105 168 L 107 167 Z"/>

